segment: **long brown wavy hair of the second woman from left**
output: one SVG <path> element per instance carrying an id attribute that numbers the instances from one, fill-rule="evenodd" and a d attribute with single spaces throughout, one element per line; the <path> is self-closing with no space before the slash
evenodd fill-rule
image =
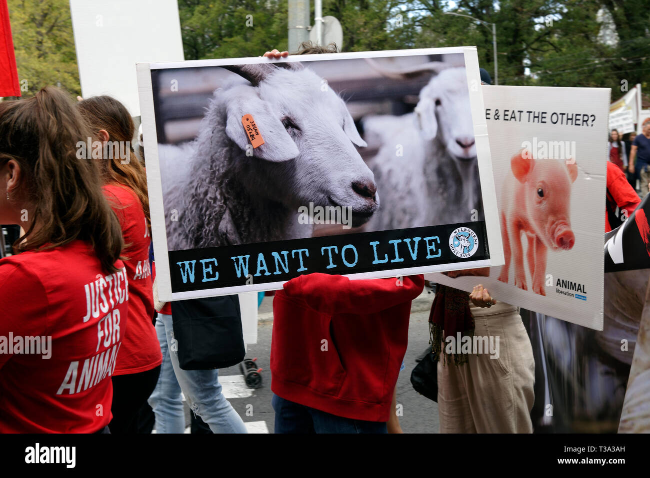
<path id="1" fill-rule="evenodd" d="M 93 96 L 77 104 L 81 115 L 86 119 L 94 140 L 99 138 L 99 130 L 109 133 L 109 141 L 118 141 L 120 144 L 133 141 L 135 125 L 133 118 L 120 101 L 107 95 Z M 147 220 L 149 235 L 151 234 L 151 214 L 149 212 L 149 195 L 147 192 L 147 173 L 144 165 L 138 160 L 133 147 L 128 150 L 129 160 L 124 161 L 120 155 L 110 155 L 112 158 L 103 158 L 99 169 L 105 183 L 117 182 L 131 188 L 140 199 L 144 217 Z"/>

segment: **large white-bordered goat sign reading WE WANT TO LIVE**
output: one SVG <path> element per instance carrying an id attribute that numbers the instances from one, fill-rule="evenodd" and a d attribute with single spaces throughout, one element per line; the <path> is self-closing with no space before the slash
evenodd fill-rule
<path id="1" fill-rule="evenodd" d="M 503 264 L 475 47 L 137 71 L 162 300 Z"/>

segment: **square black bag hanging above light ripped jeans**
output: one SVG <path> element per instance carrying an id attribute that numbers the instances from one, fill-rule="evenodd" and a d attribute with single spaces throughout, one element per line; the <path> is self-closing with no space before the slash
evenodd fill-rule
<path id="1" fill-rule="evenodd" d="M 175 347 L 183 370 L 226 368 L 244 360 L 239 297 L 207 297 L 171 304 Z"/>

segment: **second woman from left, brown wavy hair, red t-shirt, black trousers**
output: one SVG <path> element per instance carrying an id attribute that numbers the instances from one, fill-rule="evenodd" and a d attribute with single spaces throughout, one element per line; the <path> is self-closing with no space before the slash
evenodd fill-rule
<path id="1" fill-rule="evenodd" d="M 127 109 L 110 96 L 95 96 L 77 105 L 102 146 L 98 160 L 104 194 L 115 211 L 126 244 L 129 275 L 129 329 L 113 373 L 111 433 L 137 433 L 138 413 L 158 382 L 161 347 L 153 327 L 153 283 L 149 199 L 144 166 L 131 148 L 135 133 Z M 93 147 L 93 149 L 95 149 Z"/>

